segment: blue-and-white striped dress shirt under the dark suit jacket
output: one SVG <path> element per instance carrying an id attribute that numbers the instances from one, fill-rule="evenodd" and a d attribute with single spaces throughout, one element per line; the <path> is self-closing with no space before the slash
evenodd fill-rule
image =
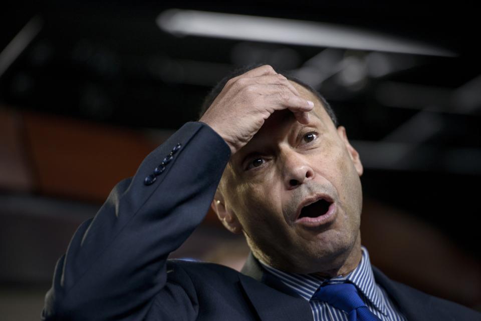
<path id="1" fill-rule="evenodd" d="M 371 262 L 367 249 L 362 247 L 359 265 L 346 276 L 322 278 L 311 274 L 287 273 L 262 262 L 262 266 L 301 297 L 309 301 L 314 321 L 348 321 L 348 313 L 335 308 L 327 302 L 311 300 L 316 290 L 325 284 L 351 282 L 360 292 L 362 300 L 371 312 L 382 321 L 406 321 L 389 299 L 386 291 L 374 281 Z"/>

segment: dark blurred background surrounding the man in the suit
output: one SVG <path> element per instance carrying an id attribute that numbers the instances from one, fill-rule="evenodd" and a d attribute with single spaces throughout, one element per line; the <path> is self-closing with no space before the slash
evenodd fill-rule
<path id="1" fill-rule="evenodd" d="M 297 75 L 334 106 L 365 167 L 362 235 L 372 262 L 481 310 L 474 8 L 352 0 L 2 7 L 3 320 L 40 317 L 76 227 L 197 119 L 212 85 L 252 63 Z M 172 255 L 240 268 L 247 252 L 208 213 Z"/>

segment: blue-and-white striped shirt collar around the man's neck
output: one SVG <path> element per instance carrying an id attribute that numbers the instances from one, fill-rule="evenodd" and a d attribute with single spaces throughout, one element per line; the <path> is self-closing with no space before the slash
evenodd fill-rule
<path id="1" fill-rule="evenodd" d="M 332 278 L 322 278 L 312 274 L 289 273 L 278 270 L 263 261 L 259 260 L 262 266 L 273 276 L 280 279 L 289 288 L 306 300 L 311 300 L 316 290 L 324 284 L 352 282 L 361 293 L 384 315 L 387 315 L 387 307 L 384 297 L 380 293 L 379 287 L 374 281 L 369 253 L 364 246 L 361 246 L 362 256 L 358 266 L 345 276 L 336 276 Z"/>

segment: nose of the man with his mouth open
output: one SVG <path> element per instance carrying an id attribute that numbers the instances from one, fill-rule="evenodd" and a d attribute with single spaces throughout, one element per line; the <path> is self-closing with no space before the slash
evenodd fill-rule
<path id="1" fill-rule="evenodd" d="M 314 178 L 314 170 L 304 155 L 291 151 L 285 153 L 284 157 L 284 180 L 288 189 L 294 189 Z"/>

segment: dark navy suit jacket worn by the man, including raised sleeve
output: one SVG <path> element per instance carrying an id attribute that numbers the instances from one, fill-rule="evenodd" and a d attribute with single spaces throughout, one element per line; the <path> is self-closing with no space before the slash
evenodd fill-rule
<path id="1" fill-rule="evenodd" d="M 181 148 L 165 170 L 145 185 L 177 143 Z M 204 218 L 229 156 L 225 142 L 198 122 L 185 124 L 149 154 L 74 234 L 57 263 L 43 319 L 312 320 L 309 303 L 264 273 L 253 256 L 243 273 L 167 260 Z M 481 319 L 374 273 L 408 320 Z"/>

